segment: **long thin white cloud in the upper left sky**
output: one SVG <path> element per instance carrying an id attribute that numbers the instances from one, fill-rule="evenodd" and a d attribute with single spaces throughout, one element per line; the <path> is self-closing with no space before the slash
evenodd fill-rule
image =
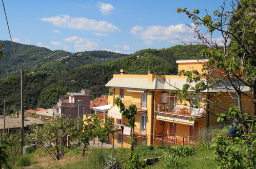
<path id="1" fill-rule="evenodd" d="M 70 17 L 69 15 L 61 15 L 54 17 L 43 17 L 41 20 L 50 22 L 53 25 L 60 26 L 62 28 L 70 29 L 85 29 L 93 31 L 117 31 L 118 27 L 106 22 L 99 21 L 97 22 L 94 19 L 88 19 L 86 17 Z"/>

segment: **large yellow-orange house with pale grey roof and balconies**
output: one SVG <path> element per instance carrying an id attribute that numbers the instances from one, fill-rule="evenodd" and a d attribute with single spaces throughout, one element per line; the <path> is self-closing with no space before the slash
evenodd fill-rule
<path id="1" fill-rule="evenodd" d="M 178 70 L 201 71 L 202 64 L 207 60 L 177 60 Z M 148 71 L 147 75 L 125 74 L 125 70 L 121 70 L 121 74 L 114 74 L 113 78 L 106 84 L 113 93 L 108 96 L 108 104 L 113 107 L 108 111 L 108 116 L 114 119 L 114 125 L 119 132 L 111 137 L 111 142 L 115 146 L 130 147 L 130 140 L 124 139 L 130 137 L 130 129 L 128 128 L 127 119 L 122 116 L 120 110 L 114 104 L 115 98 L 119 97 L 123 100 L 126 108 L 131 104 L 137 107 L 135 116 L 135 139 L 141 144 L 156 144 L 157 140 L 163 140 L 168 143 L 180 144 L 188 143 L 187 136 L 195 136 L 204 132 L 204 129 L 217 125 L 216 117 L 209 113 L 220 113 L 218 108 L 204 106 L 202 100 L 198 100 L 202 108 L 193 108 L 189 102 L 187 105 L 177 104 L 175 100 L 177 96 L 170 94 L 170 90 L 182 89 L 187 83 L 187 77 L 178 75 L 155 75 Z M 246 88 L 244 90 L 247 90 Z M 222 100 L 220 104 L 228 108 L 234 103 L 231 97 L 225 97 L 227 94 L 216 96 L 218 89 L 207 90 L 202 92 L 205 98 Z M 248 91 L 249 92 L 249 91 Z M 204 107 L 203 107 L 204 106 Z M 250 101 L 243 103 L 244 108 L 250 107 Z M 85 118 L 85 117 L 84 117 Z M 185 140 L 184 140 L 185 136 Z M 180 138 L 180 139 L 179 139 Z"/>

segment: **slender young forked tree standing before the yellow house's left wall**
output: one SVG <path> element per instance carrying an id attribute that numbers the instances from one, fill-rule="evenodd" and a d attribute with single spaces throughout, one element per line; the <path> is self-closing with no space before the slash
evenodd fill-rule
<path id="1" fill-rule="evenodd" d="M 122 115 L 128 119 L 128 125 L 131 128 L 131 151 L 133 151 L 134 142 L 135 142 L 135 138 L 134 138 L 135 115 L 137 113 L 136 105 L 134 104 L 129 105 L 128 109 L 126 109 L 124 103 L 119 97 L 115 99 L 115 104 L 117 105 L 117 107 L 119 107 L 120 113 L 122 113 Z"/>

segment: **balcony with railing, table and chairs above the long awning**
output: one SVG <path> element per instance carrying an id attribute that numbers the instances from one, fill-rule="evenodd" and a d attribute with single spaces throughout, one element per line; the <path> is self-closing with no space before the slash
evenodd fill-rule
<path id="1" fill-rule="evenodd" d="M 204 117 L 204 108 L 179 107 L 170 104 L 155 104 L 155 112 L 167 113 L 186 117 Z"/>

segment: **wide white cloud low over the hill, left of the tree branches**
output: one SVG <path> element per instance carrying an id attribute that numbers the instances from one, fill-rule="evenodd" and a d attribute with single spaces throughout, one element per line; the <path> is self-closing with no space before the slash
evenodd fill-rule
<path id="1" fill-rule="evenodd" d="M 169 43 L 176 43 L 180 40 L 191 41 L 195 40 L 193 37 L 193 30 L 185 24 L 164 26 L 149 26 L 143 28 L 140 26 L 134 26 L 130 32 L 136 37 L 140 37 L 144 40 L 157 40 L 168 41 Z M 146 41 L 145 43 L 149 43 Z"/>

